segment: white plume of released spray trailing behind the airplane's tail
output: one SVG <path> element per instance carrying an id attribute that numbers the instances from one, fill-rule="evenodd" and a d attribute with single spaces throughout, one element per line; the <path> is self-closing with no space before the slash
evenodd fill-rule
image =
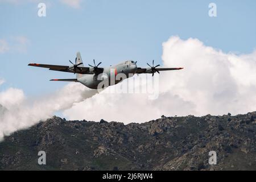
<path id="1" fill-rule="evenodd" d="M 0 140 L 16 130 L 44 121 L 56 111 L 68 109 L 75 102 L 81 102 L 96 93 L 96 90 L 81 84 L 70 83 L 51 95 L 26 98 L 22 90 L 9 88 L 0 93 L 0 104 L 6 108 L 5 113 L 0 115 Z"/>

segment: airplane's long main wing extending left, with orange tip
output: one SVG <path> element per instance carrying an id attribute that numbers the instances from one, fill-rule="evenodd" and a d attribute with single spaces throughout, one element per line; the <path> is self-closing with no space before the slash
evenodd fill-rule
<path id="1" fill-rule="evenodd" d="M 64 66 L 64 65 L 36 64 L 36 63 L 31 63 L 31 64 L 28 64 L 28 65 L 31 66 L 31 67 L 49 68 L 49 70 L 52 70 L 52 71 L 79 73 L 79 74 L 90 74 L 90 75 L 93 74 L 93 73 L 90 73 L 89 67 L 79 67 L 79 69 L 77 69 L 76 72 L 75 72 L 69 66 Z"/>

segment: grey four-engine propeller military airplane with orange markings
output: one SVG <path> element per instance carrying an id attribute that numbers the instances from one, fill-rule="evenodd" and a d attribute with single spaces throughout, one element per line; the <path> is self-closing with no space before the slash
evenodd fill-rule
<path id="1" fill-rule="evenodd" d="M 72 64 L 71 66 L 65 65 L 49 65 L 49 64 L 37 64 L 31 63 L 28 66 L 31 67 L 41 67 L 41 68 L 49 68 L 52 71 L 60 71 L 60 72 L 69 72 L 76 74 L 76 78 L 72 79 L 52 79 L 50 81 L 73 81 L 80 82 L 81 84 L 87 86 L 90 89 L 99 89 L 98 85 L 102 82 L 102 77 L 98 78 L 99 75 L 106 75 L 108 81 L 110 82 L 110 75 L 114 71 L 114 75 L 117 76 L 119 73 L 125 74 L 126 78 L 131 77 L 131 75 L 142 74 L 142 73 L 151 73 L 152 76 L 154 74 L 160 73 L 160 71 L 171 71 L 171 70 L 180 70 L 183 68 L 158 68 L 160 65 L 154 66 L 154 60 L 152 61 L 152 65 L 148 64 L 148 68 L 138 68 L 137 61 L 126 60 L 122 63 L 116 65 L 110 65 L 110 67 L 101 68 L 98 67 L 100 63 L 96 65 L 95 60 L 93 60 L 94 65 L 89 65 L 89 67 L 84 67 L 84 63 L 82 62 L 82 57 L 80 52 L 77 52 L 75 64 L 72 63 L 71 60 L 69 62 Z M 102 74 L 101 74 L 102 73 Z M 106 78 L 104 77 L 104 78 Z M 112 85 L 118 84 L 122 80 L 115 80 Z M 111 84 L 110 84 L 111 85 Z M 107 87 L 109 85 L 105 85 Z M 102 89 L 102 88 L 100 88 Z"/>

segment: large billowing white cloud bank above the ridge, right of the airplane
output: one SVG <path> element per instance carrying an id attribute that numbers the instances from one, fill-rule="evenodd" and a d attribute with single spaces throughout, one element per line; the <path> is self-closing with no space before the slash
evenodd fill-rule
<path id="1" fill-rule="evenodd" d="M 161 72 L 159 98 L 147 94 L 106 94 L 88 98 L 64 115 L 70 119 L 144 122 L 160 115 L 247 113 L 256 110 L 256 51 L 224 53 L 200 40 L 171 37 L 163 43 L 163 66 L 184 67 Z M 115 85 L 118 86 L 118 85 Z"/>

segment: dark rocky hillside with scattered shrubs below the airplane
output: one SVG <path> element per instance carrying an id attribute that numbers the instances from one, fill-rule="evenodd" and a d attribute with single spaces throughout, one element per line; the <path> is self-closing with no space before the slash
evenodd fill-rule
<path id="1" fill-rule="evenodd" d="M 0 170 L 256 170 L 256 112 L 119 122 L 53 117 L 0 143 Z M 39 166 L 38 152 L 46 151 Z M 217 152 L 217 165 L 208 163 Z"/>

